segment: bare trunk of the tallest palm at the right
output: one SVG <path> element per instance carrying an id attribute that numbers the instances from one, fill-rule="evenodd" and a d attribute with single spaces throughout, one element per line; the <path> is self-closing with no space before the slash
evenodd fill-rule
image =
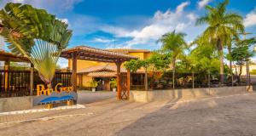
<path id="1" fill-rule="evenodd" d="M 219 61 L 220 61 L 220 67 L 219 67 L 219 76 L 220 76 L 220 83 L 221 86 L 224 85 L 224 54 L 223 54 L 223 45 L 221 40 L 218 40 L 218 53 L 219 53 Z"/>

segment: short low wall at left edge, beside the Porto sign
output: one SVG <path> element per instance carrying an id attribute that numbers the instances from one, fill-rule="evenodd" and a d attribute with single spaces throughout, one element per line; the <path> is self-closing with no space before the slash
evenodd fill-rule
<path id="1" fill-rule="evenodd" d="M 32 97 L 11 97 L 0 99 L 0 112 L 32 109 Z"/>

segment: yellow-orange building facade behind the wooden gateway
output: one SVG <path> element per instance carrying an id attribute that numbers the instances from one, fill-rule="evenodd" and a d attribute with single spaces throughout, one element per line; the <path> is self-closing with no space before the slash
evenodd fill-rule
<path id="1" fill-rule="evenodd" d="M 121 54 L 129 54 L 138 59 L 147 59 L 150 51 L 147 49 L 108 49 Z M 68 59 L 68 67 L 72 68 L 72 59 Z M 113 63 L 96 62 L 90 60 L 79 60 L 77 62 L 77 84 L 80 89 L 89 89 L 90 82 L 95 80 L 99 82 L 96 90 L 112 90 L 110 80 L 115 78 L 116 65 Z M 121 65 L 121 75 L 126 75 L 124 64 Z M 140 69 L 135 73 L 131 73 L 131 88 L 144 88 L 144 69 Z M 125 78 L 124 78 L 125 79 Z"/>

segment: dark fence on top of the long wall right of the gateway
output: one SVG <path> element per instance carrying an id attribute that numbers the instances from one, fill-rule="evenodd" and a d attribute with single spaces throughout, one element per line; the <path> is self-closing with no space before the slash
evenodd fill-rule
<path id="1" fill-rule="evenodd" d="M 179 73 L 175 72 L 174 80 L 172 72 L 163 72 L 160 76 L 148 73 L 148 89 L 173 89 L 173 88 L 218 88 L 224 86 L 246 86 L 246 76 L 224 75 L 224 84 L 220 83 L 218 73 Z M 251 84 L 256 83 L 256 77 L 250 77 Z M 173 85 L 174 82 L 174 85 Z M 131 85 L 132 90 L 144 90 L 144 83 L 141 85 Z"/>

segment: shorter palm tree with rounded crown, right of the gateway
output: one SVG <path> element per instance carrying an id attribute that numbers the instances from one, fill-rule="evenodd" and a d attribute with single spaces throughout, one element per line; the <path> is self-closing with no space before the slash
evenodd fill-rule
<path id="1" fill-rule="evenodd" d="M 187 47 L 187 43 L 184 40 L 184 33 L 176 33 L 175 31 L 166 33 L 158 42 L 162 43 L 162 50 L 168 54 L 172 54 L 172 88 L 175 88 L 175 68 L 176 60 L 179 54 L 183 53 L 183 49 Z"/>

